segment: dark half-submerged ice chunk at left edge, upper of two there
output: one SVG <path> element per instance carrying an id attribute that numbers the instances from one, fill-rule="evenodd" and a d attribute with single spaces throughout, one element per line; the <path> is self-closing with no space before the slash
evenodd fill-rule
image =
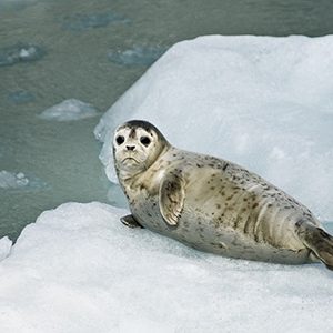
<path id="1" fill-rule="evenodd" d="M 29 62 L 41 59 L 44 51 L 33 44 L 19 43 L 9 48 L 0 49 L 0 67 L 11 65 L 18 62 Z"/>

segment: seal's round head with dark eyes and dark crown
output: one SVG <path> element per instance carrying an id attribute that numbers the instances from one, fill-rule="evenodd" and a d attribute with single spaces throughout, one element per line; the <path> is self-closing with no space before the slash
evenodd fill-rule
<path id="1" fill-rule="evenodd" d="M 119 175 L 131 178 L 149 169 L 170 144 L 151 123 L 131 120 L 117 128 L 113 138 L 114 165 Z"/>

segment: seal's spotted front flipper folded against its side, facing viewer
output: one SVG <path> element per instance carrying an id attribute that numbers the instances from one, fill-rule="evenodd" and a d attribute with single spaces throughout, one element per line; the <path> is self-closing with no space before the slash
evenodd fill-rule
<path id="1" fill-rule="evenodd" d="M 176 225 L 184 204 L 185 191 L 180 176 L 168 174 L 161 181 L 160 211 L 169 225 Z"/>

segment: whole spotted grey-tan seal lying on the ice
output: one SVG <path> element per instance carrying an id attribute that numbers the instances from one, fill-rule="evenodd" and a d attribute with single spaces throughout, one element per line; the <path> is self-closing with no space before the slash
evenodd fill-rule
<path id="1" fill-rule="evenodd" d="M 321 260 L 333 270 L 333 238 L 307 208 L 258 174 L 176 149 L 140 120 L 115 130 L 113 157 L 131 211 L 121 219 L 125 225 L 229 258 Z"/>

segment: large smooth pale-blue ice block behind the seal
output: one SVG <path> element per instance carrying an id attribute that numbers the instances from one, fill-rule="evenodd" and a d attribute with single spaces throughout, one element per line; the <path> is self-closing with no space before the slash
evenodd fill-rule
<path id="1" fill-rule="evenodd" d="M 333 220 L 333 37 L 202 37 L 172 47 L 103 115 L 95 135 L 115 180 L 111 140 L 129 119 L 175 147 L 260 173 Z"/>

